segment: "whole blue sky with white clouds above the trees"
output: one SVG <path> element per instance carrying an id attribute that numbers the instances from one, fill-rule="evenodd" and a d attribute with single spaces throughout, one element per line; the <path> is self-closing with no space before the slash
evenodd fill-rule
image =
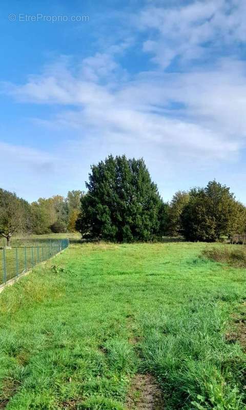
<path id="1" fill-rule="evenodd" d="M 246 203 L 244 0 L 1 8 L 0 187 L 66 195 L 112 153 L 165 200 L 216 178 Z"/>

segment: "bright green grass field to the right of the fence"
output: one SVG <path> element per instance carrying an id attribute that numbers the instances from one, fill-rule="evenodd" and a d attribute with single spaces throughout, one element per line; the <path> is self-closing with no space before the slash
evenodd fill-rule
<path id="1" fill-rule="evenodd" d="M 226 336 L 244 323 L 245 269 L 200 257 L 210 246 L 71 244 L 6 289 L 0 408 L 124 410 L 130 394 L 142 409 L 148 374 L 158 408 L 245 409 L 245 353 Z"/>

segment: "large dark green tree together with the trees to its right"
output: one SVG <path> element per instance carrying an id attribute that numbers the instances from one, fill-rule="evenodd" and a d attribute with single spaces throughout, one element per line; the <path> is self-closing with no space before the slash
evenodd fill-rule
<path id="1" fill-rule="evenodd" d="M 230 188 L 210 181 L 163 202 L 143 159 L 110 155 L 91 167 L 77 230 L 85 238 L 148 241 L 182 235 L 217 241 L 246 231 L 246 208 Z"/>

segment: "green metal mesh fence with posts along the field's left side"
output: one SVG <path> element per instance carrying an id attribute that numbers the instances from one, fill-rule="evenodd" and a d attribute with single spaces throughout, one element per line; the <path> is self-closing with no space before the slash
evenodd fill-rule
<path id="1" fill-rule="evenodd" d="M 27 242 L 27 244 L 0 249 L 0 284 L 18 277 L 69 246 L 69 239 Z"/>

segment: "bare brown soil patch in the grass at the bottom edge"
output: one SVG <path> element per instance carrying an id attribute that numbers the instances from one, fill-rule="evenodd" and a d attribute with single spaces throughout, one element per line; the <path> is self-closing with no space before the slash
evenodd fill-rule
<path id="1" fill-rule="evenodd" d="M 127 398 L 128 410 L 162 410 L 163 397 L 153 376 L 137 374 Z"/>

